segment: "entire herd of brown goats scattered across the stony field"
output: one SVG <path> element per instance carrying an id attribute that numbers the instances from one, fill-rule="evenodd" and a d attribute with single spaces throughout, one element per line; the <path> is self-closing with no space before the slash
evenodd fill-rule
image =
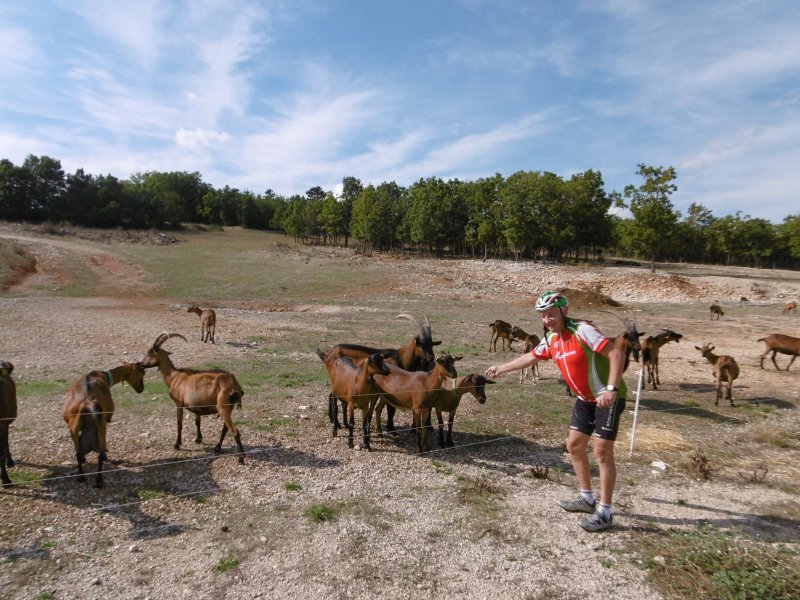
<path id="1" fill-rule="evenodd" d="M 746 301 L 742 298 L 742 301 Z M 796 302 L 790 302 L 783 309 L 789 314 L 797 308 Z M 212 309 L 200 309 L 193 305 L 187 312 L 200 316 L 201 340 L 214 343 L 216 314 Z M 668 329 L 661 330 L 654 336 L 643 337 L 645 332 L 638 332 L 636 324 L 615 313 L 625 331 L 611 338 L 625 353 L 625 369 L 627 370 L 631 355 L 637 363 L 640 360 L 647 373 L 645 385 L 650 384 L 658 389 L 661 380 L 658 374 L 659 349 L 666 343 L 679 342 L 680 333 Z M 718 304 L 710 307 L 711 319 L 724 316 Z M 316 350 L 328 372 L 331 392 L 328 396 L 328 416 L 332 424 L 333 435 L 345 427 L 348 429 L 348 446 L 353 447 L 353 423 L 355 410 L 362 413 L 363 447 L 370 449 L 370 424 L 372 416 L 377 412 L 377 431 L 382 433 L 381 412 L 387 409 L 386 429 L 396 434 L 394 414 L 397 409 L 410 411 L 413 414 L 413 426 L 416 431 L 416 450 L 422 453 L 427 448 L 426 433 L 430 427 L 431 413 L 435 412 L 439 425 L 439 444 L 452 447 L 453 419 L 461 397 L 471 394 L 479 403 L 486 402 L 486 385 L 495 383 L 477 373 L 458 376 L 455 363 L 461 356 L 443 354 L 436 356 L 434 346 L 441 341 L 433 341 L 431 324 L 428 317 L 425 323 L 417 321 L 408 314 L 398 315 L 398 319 L 407 319 L 418 325 L 418 333 L 404 346 L 399 348 L 372 348 L 359 344 L 338 344 L 328 352 Z M 511 344 L 517 340 L 529 352 L 540 342 L 534 334 L 528 334 L 520 327 L 512 326 L 505 321 L 490 323 L 492 331 L 489 351 L 497 351 L 497 341 L 501 340 L 501 348 L 505 350 L 506 341 Z M 203 415 L 217 415 L 222 419 L 222 432 L 214 452 L 221 452 L 222 443 L 230 431 L 236 442 L 238 460 L 244 464 L 244 448 L 241 435 L 233 423 L 231 414 L 235 407 L 242 404 L 244 391 L 236 380 L 236 376 L 221 369 L 196 370 L 177 368 L 170 359 L 170 353 L 162 348 L 162 344 L 170 338 L 186 338 L 179 333 L 161 333 L 147 350 L 144 357 L 136 363 L 124 363 L 108 371 L 91 371 L 80 377 L 67 391 L 64 397 L 63 417 L 69 427 L 75 446 L 78 462 L 78 480 L 85 481 L 83 465 L 86 455 L 97 453 L 97 472 L 95 487 L 103 486 L 103 463 L 107 460 L 106 431 L 114 414 L 114 401 L 111 388 L 121 382 L 127 382 L 137 393 L 144 390 L 146 369 L 157 367 L 169 389 L 169 396 L 177 408 L 177 439 L 175 449 L 181 446 L 184 410 L 194 414 L 196 438 L 202 442 L 200 419 Z M 772 353 L 772 362 L 780 369 L 775 360 L 776 354 L 787 354 L 792 358 L 786 366 L 789 370 L 795 358 L 800 355 L 800 338 L 773 333 L 758 341 L 763 341 L 766 349 L 761 354 L 760 366 L 764 368 L 764 358 Z M 733 406 L 733 381 L 739 376 L 739 365 L 732 356 L 714 354 L 712 344 L 703 347 L 695 346 L 701 355 L 713 366 L 717 382 L 715 405 L 722 397 L 722 386 L 726 385 L 725 397 Z M 7 468 L 14 466 L 9 449 L 9 427 L 17 417 L 16 385 L 11 377 L 14 365 L 0 360 L 0 477 L 3 486 L 12 485 Z M 520 375 L 520 383 L 527 372 Z M 538 374 L 533 369 L 534 381 Z M 567 390 L 569 392 L 569 390 Z M 339 405 L 343 407 L 343 425 L 339 424 Z M 447 435 L 444 435 L 443 414 L 447 413 Z"/>

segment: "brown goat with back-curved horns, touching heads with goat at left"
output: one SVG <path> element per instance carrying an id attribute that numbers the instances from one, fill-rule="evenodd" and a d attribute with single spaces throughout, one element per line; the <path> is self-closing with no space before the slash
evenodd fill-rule
<path id="1" fill-rule="evenodd" d="M 214 452 L 219 454 L 222 451 L 222 442 L 230 430 L 239 452 L 239 464 L 243 465 L 242 439 L 231 417 L 234 407 L 242 407 L 242 396 L 244 395 L 242 386 L 239 385 L 233 373 L 221 369 L 197 371 L 175 368 L 169 358 L 170 353 L 161 348 L 161 344 L 173 337 L 179 337 L 184 342 L 186 341 L 186 338 L 180 333 L 162 333 L 153 342 L 152 347 L 139 361 L 139 364 L 146 369 L 158 367 L 164 383 L 169 388 L 169 397 L 172 398 L 177 408 L 178 438 L 175 441 L 175 449 L 178 450 L 181 447 L 184 409 L 194 414 L 194 423 L 197 429 L 197 437 L 194 441 L 198 444 L 203 441 L 200 417 L 217 415 L 222 419 L 223 425 Z"/>

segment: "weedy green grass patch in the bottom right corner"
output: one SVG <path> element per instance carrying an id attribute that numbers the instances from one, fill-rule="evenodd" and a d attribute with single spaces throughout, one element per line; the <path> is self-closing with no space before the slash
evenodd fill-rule
<path id="1" fill-rule="evenodd" d="M 797 597 L 800 557 L 796 550 L 711 526 L 650 535 L 641 543 L 650 579 L 667 598 Z"/>

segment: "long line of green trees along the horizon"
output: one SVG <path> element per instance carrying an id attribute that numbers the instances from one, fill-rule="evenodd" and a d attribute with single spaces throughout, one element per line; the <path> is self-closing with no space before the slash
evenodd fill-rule
<path id="1" fill-rule="evenodd" d="M 800 266 L 800 215 L 779 225 L 749 215 L 715 217 L 701 204 L 672 205 L 673 167 L 638 165 L 643 181 L 606 192 L 588 170 L 499 173 L 477 181 L 419 179 L 363 185 L 341 193 L 313 187 L 288 198 L 205 183 L 200 173 L 145 172 L 127 180 L 65 174 L 48 156 L 0 161 L 0 219 L 125 229 L 179 229 L 185 223 L 282 231 L 303 243 L 434 256 L 552 261 L 604 255 L 756 267 Z M 628 209 L 621 218 L 612 209 Z"/>

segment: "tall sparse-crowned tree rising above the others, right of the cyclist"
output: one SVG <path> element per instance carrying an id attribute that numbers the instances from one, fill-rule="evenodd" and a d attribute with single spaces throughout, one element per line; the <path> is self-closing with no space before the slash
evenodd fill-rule
<path id="1" fill-rule="evenodd" d="M 673 210 L 670 195 L 678 189 L 672 181 L 674 167 L 639 165 L 637 174 L 645 178 L 639 187 L 625 186 L 625 198 L 633 213 L 632 236 L 645 256 L 650 257 L 650 271 L 655 273 L 656 259 L 674 243 L 675 225 L 680 213 Z"/>

